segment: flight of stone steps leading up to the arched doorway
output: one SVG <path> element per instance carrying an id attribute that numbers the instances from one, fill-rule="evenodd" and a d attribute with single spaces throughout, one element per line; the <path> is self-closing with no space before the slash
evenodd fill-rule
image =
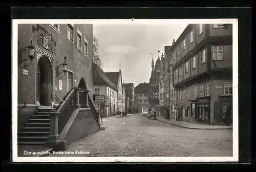
<path id="1" fill-rule="evenodd" d="M 39 106 L 38 112 L 18 132 L 18 145 L 44 145 L 50 135 L 50 115 L 52 106 Z"/>

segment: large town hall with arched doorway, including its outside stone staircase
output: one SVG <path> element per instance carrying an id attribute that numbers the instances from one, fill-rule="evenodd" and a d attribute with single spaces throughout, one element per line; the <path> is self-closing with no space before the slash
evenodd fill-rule
<path id="1" fill-rule="evenodd" d="M 18 144 L 66 145 L 100 130 L 93 25 L 18 25 Z"/>

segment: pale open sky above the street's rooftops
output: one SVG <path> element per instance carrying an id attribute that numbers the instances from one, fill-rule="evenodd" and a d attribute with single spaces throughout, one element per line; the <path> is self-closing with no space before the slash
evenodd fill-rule
<path id="1" fill-rule="evenodd" d="M 98 54 L 104 72 L 119 72 L 121 64 L 124 83 L 149 82 L 152 54 L 154 62 L 158 50 L 172 45 L 188 24 L 94 24 L 93 34 L 98 38 Z"/>

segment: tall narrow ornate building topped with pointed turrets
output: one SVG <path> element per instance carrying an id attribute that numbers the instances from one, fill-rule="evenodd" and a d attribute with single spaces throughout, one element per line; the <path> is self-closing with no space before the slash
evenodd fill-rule
<path id="1" fill-rule="evenodd" d="M 150 85 L 151 89 L 149 92 L 149 103 L 150 103 L 150 111 L 158 111 L 159 109 L 159 79 L 160 79 L 160 70 L 161 70 L 161 60 L 159 57 L 160 51 L 158 50 L 158 59 L 156 61 L 156 65 L 154 66 L 154 59 L 152 58 L 151 67 L 151 77 L 150 77 Z M 157 113 L 159 114 L 159 113 Z"/>

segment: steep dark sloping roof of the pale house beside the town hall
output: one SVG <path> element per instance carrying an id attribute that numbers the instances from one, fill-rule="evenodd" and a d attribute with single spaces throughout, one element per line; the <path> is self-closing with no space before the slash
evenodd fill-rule
<path id="1" fill-rule="evenodd" d="M 106 85 L 117 91 L 116 85 L 111 82 L 111 80 L 104 74 L 104 71 L 100 69 L 95 63 L 93 63 L 94 68 L 94 85 Z"/>

